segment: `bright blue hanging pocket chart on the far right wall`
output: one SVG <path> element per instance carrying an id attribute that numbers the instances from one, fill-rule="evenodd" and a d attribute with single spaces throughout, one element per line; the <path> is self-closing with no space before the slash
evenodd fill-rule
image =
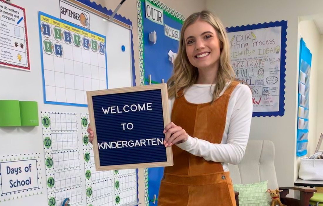
<path id="1" fill-rule="evenodd" d="M 299 48 L 299 78 L 298 78 L 298 115 L 296 155 L 307 154 L 308 144 L 308 114 L 309 114 L 309 80 L 311 74 L 312 53 L 307 48 L 303 38 Z"/>

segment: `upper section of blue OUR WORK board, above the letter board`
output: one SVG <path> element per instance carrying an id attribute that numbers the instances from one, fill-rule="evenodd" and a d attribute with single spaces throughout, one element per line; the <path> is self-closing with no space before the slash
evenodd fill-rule
<path id="1" fill-rule="evenodd" d="M 163 12 L 161 24 L 146 17 L 146 3 L 152 10 L 157 8 Z M 171 28 L 171 32 L 180 31 L 185 18 L 158 0 L 137 0 L 137 11 L 141 85 L 149 84 L 148 75 L 151 75 L 153 84 L 161 83 L 161 79 L 166 82 L 173 69 L 168 53 L 169 51 L 177 53 L 179 41 L 176 40 L 176 37 L 180 35 L 178 33 L 177 36 L 175 34 L 175 38 L 171 38 L 166 32 L 169 31 L 169 28 Z M 151 13 L 151 16 L 155 17 L 153 15 Z M 158 17 L 157 13 L 155 15 Z M 153 31 L 156 32 L 157 37 L 155 44 L 149 41 L 149 34 Z"/>

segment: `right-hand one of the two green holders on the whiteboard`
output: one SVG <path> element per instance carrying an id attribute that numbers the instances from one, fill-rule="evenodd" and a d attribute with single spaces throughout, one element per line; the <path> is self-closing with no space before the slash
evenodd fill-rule
<path id="1" fill-rule="evenodd" d="M 38 126 L 38 107 L 35 101 L 20 101 L 21 126 Z"/>

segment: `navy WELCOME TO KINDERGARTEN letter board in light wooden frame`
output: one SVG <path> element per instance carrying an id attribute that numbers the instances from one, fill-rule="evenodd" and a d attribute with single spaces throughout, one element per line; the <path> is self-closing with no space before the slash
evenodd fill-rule
<path id="1" fill-rule="evenodd" d="M 172 166 L 166 84 L 87 92 L 97 170 Z"/>

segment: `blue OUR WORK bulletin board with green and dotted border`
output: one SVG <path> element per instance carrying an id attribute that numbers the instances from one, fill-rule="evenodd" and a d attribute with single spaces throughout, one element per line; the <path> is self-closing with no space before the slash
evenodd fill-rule
<path id="1" fill-rule="evenodd" d="M 155 13 L 155 16 L 152 13 L 146 16 L 147 6 L 150 11 L 152 9 L 159 12 Z M 172 74 L 171 55 L 178 51 L 178 37 L 185 17 L 159 0 L 137 0 L 137 15 L 140 84 L 159 84 L 162 80 L 166 83 Z M 157 37 L 155 43 L 149 38 L 149 34 L 153 35 L 154 31 Z M 146 206 L 158 204 L 163 170 L 163 167 L 144 169 Z"/>

